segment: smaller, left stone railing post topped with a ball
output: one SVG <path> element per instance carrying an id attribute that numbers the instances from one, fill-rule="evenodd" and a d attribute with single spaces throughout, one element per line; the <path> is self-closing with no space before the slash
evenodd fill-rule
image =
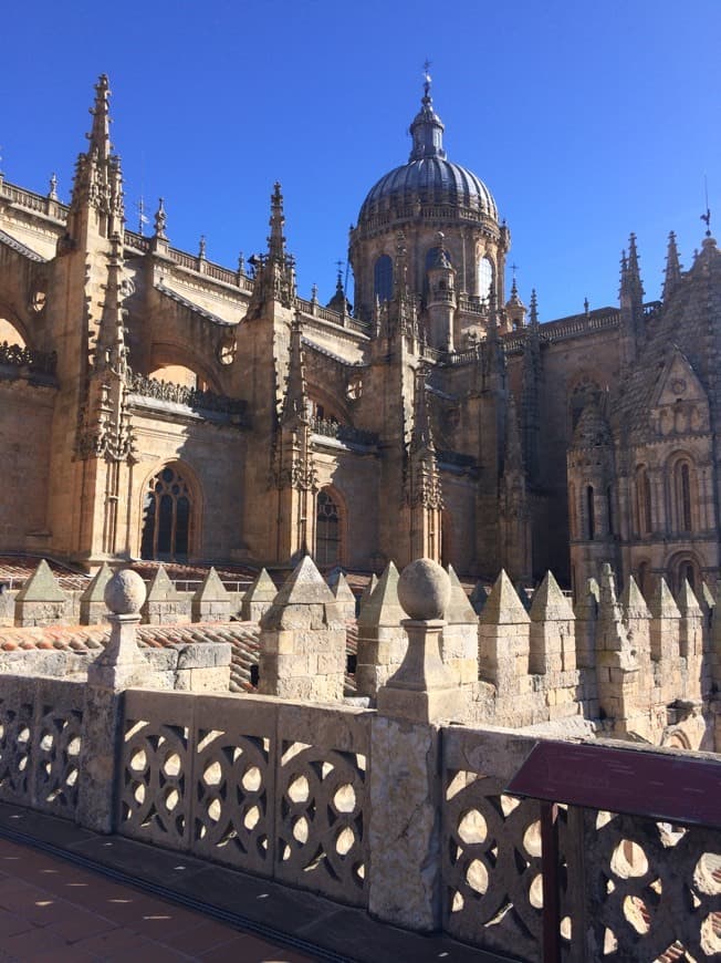
<path id="1" fill-rule="evenodd" d="M 75 817 L 94 832 L 113 832 L 116 825 L 123 693 L 142 685 L 147 672 L 136 639 L 144 601 L 143 579 L 130 569 L 117 572 L 105 587 L 111 639 L 87 670 Z"/>

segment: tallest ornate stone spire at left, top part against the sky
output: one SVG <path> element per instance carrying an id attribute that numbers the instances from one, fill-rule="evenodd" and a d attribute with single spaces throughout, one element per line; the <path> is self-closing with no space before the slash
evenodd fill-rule
<path id="1" fill-rule="evenodd" d="M 91 107 L 93 126 L 87 135 L 88 147 L 77 157 L 71 199 L 71 214 L 93 208 L 98 215 L 98 229 L 103 237 L 121 234 L 124 224 L 123 174 L 121 158 L 111 144 L 109 84 L 102 74 L 95 84 L 95 103 Z M 69 224 L 77 232 L 76 224 Z M 73 230 L 70 230 L 71 236 Z"/>

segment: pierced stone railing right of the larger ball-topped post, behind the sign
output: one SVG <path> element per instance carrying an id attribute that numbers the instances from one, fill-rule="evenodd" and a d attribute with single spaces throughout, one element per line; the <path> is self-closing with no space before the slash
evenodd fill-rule
<path id="1" fill-rule="evenodd" d="M 541 959 L 541 809 L 505 787 L 534 743 L 443 729 L 443 928 L 524 961 Z M 679 960 L 686 951 L 703 960 L 721 950 L 718 830 L 558 806 L 558 835 L 563 959 Z"/>

